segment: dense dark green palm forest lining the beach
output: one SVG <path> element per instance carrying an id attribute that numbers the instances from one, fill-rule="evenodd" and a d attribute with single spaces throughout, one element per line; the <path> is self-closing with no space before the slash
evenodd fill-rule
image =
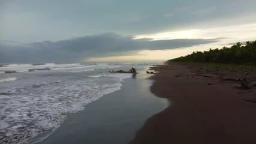
<path id="1" fill-rule="evenodd" d="M 231 47 L 210 49 L 204 52 L 193 52 L 169 61 L 180 62 L 214 62 L 225 64 L 256 64 L 256 40 L 245 44 L 236 43 Z"/>

